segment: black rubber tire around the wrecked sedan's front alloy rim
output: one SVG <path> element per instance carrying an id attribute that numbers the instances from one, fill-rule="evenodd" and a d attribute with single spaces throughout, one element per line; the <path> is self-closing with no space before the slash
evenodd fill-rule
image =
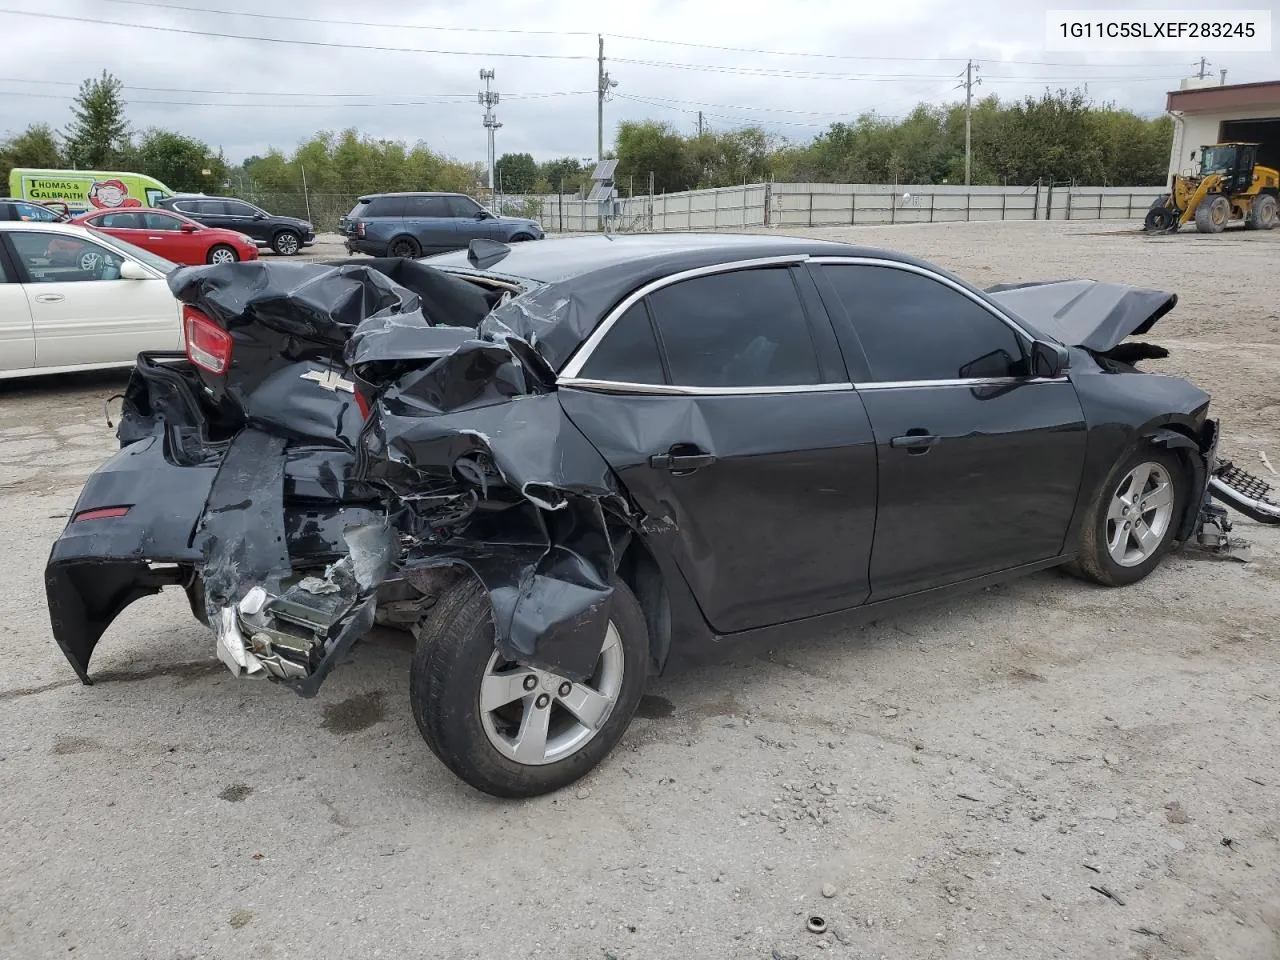
<path id="1" fill-rule="evenodd" d="M 1142 562 L 1126 566 L 1119 563 L 1108 549 L 1110 535 L 1115 531 L 1115 527 L 1112 527 L 1112 522 L 1115 521 L 1108 518 L 1107 512 L 1112 499 L 1128 484 L 1130 474 L 1143 463 L 1158 466 L 1170 479 L 1172 509 L 1161 532 L 1158 545 Z M 1190 479 L 1185 465 L 1179 460 L 1176 453 L 1149 445 L 1129 453 L 1116 463 L 1085 511 L 1071 571 L 1102 586 L 1125 586 L 1138 582 L 1158 567 L 1165 554 L 1172 549 L 1174 536 L 1178 534 L 1178 527 L 1185 515 L 1189 497 Z M 1142 516 L 1146 518 L 1151 515 L 1144 513 Z"/>

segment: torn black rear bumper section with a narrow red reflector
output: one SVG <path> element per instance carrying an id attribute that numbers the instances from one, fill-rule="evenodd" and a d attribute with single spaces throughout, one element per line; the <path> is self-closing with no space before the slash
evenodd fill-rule
<path id="1" fill-rule="evenodd" d="M 212 466 L 175 466 L 164 440 L 129 444 L 84 484 L 76 509 L 45 566 L 54 639 L 76 675 L 91 684 L 93 648 L 120 612 L 189 577 L 200 553 L 191 547 L 218 474 Z M 128 508 L 123 516 L 78 517 Z"/>

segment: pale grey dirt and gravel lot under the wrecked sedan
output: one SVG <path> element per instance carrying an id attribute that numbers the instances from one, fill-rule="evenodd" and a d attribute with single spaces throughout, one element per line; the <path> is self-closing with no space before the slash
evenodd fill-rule
<path id="1" fill-rule="evenodd" d="M 812 233 L 1178 291 L 1160 366 L 1280 465 L 1280 234 L 1130 227 Z M 41 572 L 122 384 L 0 387 L 0 956 L 1280 956 L 1280 529 L 1240 520 L 1248 564 L 727 653 L 654 682 L 579 787 L 499 803 L 420 740 L 396 635 L 301 700 L 164 595 L 76 681 Z"/>

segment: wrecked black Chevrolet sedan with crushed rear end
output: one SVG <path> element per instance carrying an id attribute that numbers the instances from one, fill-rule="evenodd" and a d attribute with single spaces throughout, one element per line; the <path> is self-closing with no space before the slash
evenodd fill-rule
<path id="1" fill-rule="evenodd" d="M 1215 461 L 1208 396 L 1134 366 L 1167 293 L 753 236 L 170 285 L 186 355 L 138 357 L 49 559 L 72 667 L 165 586 L 302 695 L 398 625 L 424 737 L 495 795 L 582 776 L 646 677 L 719 643 L 1064 563 L 1132 584 L 1225 536 L 1215 485 L 1280 518 Z"/>

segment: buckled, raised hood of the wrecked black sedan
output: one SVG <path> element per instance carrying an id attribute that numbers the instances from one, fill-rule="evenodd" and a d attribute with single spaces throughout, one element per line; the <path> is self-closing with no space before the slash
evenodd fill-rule
<path id="1" fill-rule="evenodd" d="M 1147 333 L 1178 303 L 1176 293 L 1098 280 L 1001 283 L 986 292 L 1061 343 L 1100 353 Z"/>

